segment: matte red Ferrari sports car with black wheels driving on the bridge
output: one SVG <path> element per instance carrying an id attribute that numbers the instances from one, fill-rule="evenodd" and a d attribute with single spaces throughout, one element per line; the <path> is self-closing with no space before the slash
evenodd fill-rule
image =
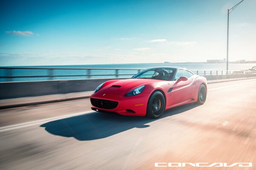
<path id="1" fill-rule="evenodd" d="M 113 79 L 90 96 L 92 110 L 159 118 L 169 108 L 204 104 L 207 80 L 184 68 L 149 68 L 131 79 Z"/>

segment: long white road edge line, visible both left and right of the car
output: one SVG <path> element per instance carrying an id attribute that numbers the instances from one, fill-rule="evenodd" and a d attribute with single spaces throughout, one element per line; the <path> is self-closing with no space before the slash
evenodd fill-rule
<path id="1" fill-rule="evenodd" d="M 256 81 L 245 82 L 245 83 L 240 83 L 240 84 L 236 84 L 236 85 L 228 85 L 228 86 L 223 86 L 223 87 L 219 87 L 219 88 L 211 88 L 208 91 L 214 91 L 214 90 L 234 87 L 234 86 L 238 86 L 238 85 L 245 85 L 245 84 L 250 84 L 250 83 L 254 83 L 254 82 L 256 82 Z M 20 123 L 20 124 L 16 124 L 16 125 L 3 126 L 3 127 L 0 127 L 0 132 L 13 130 L 13 129 L 19 129 L 22 127 L 28 127 L 28 126 L 33 126 L 33 125 L 39 125 L 39 124 L 47 123 L 47 122 L 49 122 L 49 120 L 54 121 L 54 120 L 64 119 L 64 118 L 68 118 L 71 116 L 78 116 L 78 115 L 86 114 L 86 113 L 94 113 L 94 111 L 79 112 L 79 113 L 67 114 L 67 115 L 63 115 L 63 116 L 56 116 L 56 117 L 52 117 L 52 118 L 48 118 L 48 119 L 36 120 L 36 121 L 32 121 L 32 122 Z"/>

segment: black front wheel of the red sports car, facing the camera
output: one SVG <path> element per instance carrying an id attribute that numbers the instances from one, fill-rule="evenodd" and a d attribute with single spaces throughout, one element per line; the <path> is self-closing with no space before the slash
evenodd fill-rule
<path id="1" fill-rule="evenodd" d="M 165 99 L 160 91 L 155 91 L 148 99 L 147 116 L 153 119 L 160 118 L 165 109 Z"/>

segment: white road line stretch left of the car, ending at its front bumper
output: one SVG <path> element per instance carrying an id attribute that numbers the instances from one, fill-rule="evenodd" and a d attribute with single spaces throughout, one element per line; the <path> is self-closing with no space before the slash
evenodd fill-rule
<path id="1" fill-rule="evenodd" d="M 13 129 L 19 129 L 19 128 L 22 128 L 22 127 L 44 124 L 44 123 L 47 123 L 49 121 L 65 119 L 65 118 L 68 118 L 68 117 L 71 117 L 71 116 L 79 116 L 79 115 L 82 115 L 82 114 L 94 113 L 94 112 L 95 111 L 79 112 L 79 113 L 73 113 L 73 114 L 66 114 L 66 115 L 63 115 L 63 116 L 55 116 L 55 117 L 51 117 L 51 118 L 48 118 L 48 119 L 35 120 L 35 121 L 32 121 L 32 122 L 25 122 L 25 123 L 19 123 L 19 124 L 15 124 L 15 125 L 3 126 L 3 127 L 0 127 L 0 132 L 5 132 L 5 131 L 8 131 L 8 130 L 13 130 Z"/>

